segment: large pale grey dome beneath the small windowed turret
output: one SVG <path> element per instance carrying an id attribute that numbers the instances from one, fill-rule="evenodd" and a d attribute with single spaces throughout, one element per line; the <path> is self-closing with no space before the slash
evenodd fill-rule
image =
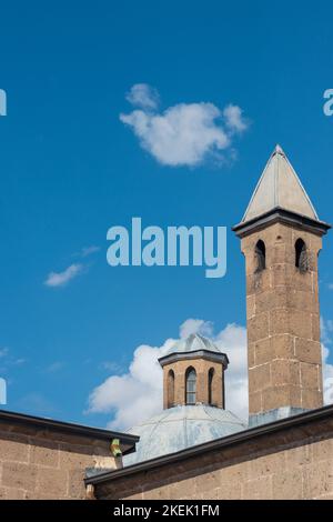
<path id="1" fill-rule="evenodd" d="M 123 458 L 123 465 L 175 453 L 245 429 L 245 422 L 220 408 L 204 404 L 170 408 L 129 430 L 140 441 L 135 453 Z"/>

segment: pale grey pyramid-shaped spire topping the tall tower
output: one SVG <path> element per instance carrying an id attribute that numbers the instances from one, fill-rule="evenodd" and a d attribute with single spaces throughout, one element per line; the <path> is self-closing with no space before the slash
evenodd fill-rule
<path id="1" fill-rule="evenodd" d="M 296 172 L 276 144 L 242 219 L 245 223 L 273 209 L 283 209 L 319 221 Z"/>

